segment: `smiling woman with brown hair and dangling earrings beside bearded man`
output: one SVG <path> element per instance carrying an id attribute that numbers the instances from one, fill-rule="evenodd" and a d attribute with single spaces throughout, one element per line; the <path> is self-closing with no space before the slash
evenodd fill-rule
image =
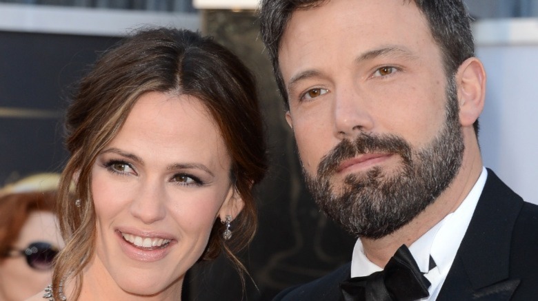
<path id="1" fill-rule="evenodd" d="M 81 81 L 66 128 L 66 247 L 46 298 L 181 300 L 186 271 L 221 251 L 244 270 L 234 254 L 256 229 L 266 146 L 235 55 L 188 30 L 141 30 Z"/>

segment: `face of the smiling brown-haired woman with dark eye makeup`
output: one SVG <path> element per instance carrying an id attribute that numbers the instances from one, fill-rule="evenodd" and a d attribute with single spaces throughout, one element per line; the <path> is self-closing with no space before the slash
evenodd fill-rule
<path id="1" fill-rule="evenodd" d="M 242 209 L 229 175 L 226 145 L 201 101 L 143 94 L 92 169 L 97 243 L 83 286 L 108 300 L 177 300 L 215 220 Z"/>

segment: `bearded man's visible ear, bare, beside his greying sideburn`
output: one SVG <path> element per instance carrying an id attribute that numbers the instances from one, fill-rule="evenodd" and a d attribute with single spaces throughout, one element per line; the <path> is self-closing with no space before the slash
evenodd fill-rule
<path id="1" fill-rule="evenodd" d="M 461 63 L 456 74 L 461 126 L 472 126 L 484 109 L 486 98 L 486 71 L 475 57 Z"/>

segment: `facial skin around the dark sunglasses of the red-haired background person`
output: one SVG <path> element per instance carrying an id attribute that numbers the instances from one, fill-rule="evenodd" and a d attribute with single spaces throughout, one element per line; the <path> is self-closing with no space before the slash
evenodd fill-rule
<path id="1" fill-rule="evenodd" d="M 50 211 L 32 211 L 19 233 L 13 249 L 25 250 L 32 242 L 48 242 L 63 247 L 57 218 Z M 3 258 L 0 261 L 0 300 L 25 300 L 42 291 L 52 281 L 52 269 L 30 267 L 25 256 Z"/>

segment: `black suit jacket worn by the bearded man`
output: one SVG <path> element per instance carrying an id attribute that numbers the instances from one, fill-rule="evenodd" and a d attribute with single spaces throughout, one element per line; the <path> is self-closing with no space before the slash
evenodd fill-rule
<path id="1" fill-rule="evenodd" d="M 340 300 L 351 262 L 274 300 Z M 438 301 L 538 300 L 538 206 L 525 203 L 490 169 Z"/>

